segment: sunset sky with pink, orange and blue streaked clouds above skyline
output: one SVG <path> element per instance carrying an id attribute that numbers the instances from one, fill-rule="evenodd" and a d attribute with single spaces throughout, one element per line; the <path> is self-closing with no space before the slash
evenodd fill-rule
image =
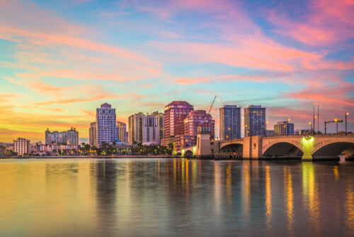
<path id="1" fill-rule="evenodd" d="M 266 107 L 267 129 L 309 129 L 319 106 L 324 132 L 349 112 L 354 131 L 353 15 L 353 0 L 0 0 L 0 142 L 88 141 L 105 102 L 127 122 L 215 96 L 217 134 L 224 104 Z"/>

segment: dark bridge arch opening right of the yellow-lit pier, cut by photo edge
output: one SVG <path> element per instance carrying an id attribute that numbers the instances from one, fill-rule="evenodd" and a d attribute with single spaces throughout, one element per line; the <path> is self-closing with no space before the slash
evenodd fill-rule
<path id="1" fill-rule="evenodd" d="M 324 143 L 312 152 L 313 158 L 338 158 L 343 151 L 354 148 L 354 143 L 350 141 L 336 141 Z M 348 154 L 348 156 L 353 154 Z"/>

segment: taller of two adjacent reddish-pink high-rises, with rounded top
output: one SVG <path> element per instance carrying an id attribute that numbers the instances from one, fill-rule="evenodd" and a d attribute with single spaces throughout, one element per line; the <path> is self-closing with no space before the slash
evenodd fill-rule
<path id="1" fill-rule="evenodd" d="M 175 136 L 184 135 L 184 119 L 193 111 L 193 105 L 186 101 L 172 101 L 165 106 L 164 139 L 161 145 L 173 143 Z"/>

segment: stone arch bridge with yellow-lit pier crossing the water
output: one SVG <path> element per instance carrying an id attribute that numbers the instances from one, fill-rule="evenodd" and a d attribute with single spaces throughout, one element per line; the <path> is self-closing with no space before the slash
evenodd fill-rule
<path id="1" fill-rule="evenodd" d="M 354 134 L 319 134 L 309 137 L 252 136 L 215 141 L 211 152 L 242 153 L 244 159 L 302 158 L 302 160 L 338 158 L 344 153 L 354 158 Z M 195 147 L 176 150 L 176 155 L 195 155 Z M 210 154 L 205 154 L 210 155 Z"/>

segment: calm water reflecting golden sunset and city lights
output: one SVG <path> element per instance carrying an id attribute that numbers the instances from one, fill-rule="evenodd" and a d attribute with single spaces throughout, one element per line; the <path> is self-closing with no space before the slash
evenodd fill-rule
<path id="1" fill-rule="evenodd" d="M 354 162 L 0 161 L 0 236 L 350 236 Z"/>

